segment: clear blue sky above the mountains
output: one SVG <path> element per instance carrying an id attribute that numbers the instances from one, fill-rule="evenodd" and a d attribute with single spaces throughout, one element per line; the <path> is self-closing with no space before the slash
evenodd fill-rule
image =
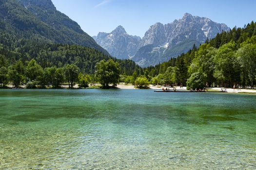
<path id="1" fill-rule="evenodd" d="M 143 36 L 156 22 L 167 24 L 184 13 L 209 17 L 229 27 L 256 21 L 256 0 L 52 0 L 57 10 L 79 23 L 89 35 L 122 25 Z"/>

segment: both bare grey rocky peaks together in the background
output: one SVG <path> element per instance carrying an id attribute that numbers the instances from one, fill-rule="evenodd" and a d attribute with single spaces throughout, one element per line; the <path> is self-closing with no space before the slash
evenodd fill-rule
<path id="1" fill-rule="evenodd" d="M 150 26 L 144 37 L 132 36 L 118 26 L 111 33 L 93 36 L 98 45 L 119 59 L 130 58 L 141 67 L 155 66 L 172 57 L 199 46 L 212 39 L 217 33 L 229 31 L 225 24 L 219 24 L 206 17 L 185 13 L 181 19 L 163 25 Z"/>

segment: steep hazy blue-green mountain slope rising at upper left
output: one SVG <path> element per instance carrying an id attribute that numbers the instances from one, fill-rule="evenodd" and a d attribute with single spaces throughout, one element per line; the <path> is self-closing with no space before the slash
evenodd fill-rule
<path id="1" fill-rule="evenodd" d="M 108 54 L 51 0 L 0 0 L 0 31 L 22 38 L 78 44 Z"/>

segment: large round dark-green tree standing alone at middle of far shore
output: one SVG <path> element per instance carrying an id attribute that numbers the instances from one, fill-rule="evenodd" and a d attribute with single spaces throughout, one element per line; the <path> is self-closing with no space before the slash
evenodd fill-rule
<path id="1" fill-rule="evenodd" d="M 120 74 L 120 65 L 112 59 L 101 60 L 96 65 L 96 76 L 103 88 L 108 87 L 110 83 L 116 85 Z"/>

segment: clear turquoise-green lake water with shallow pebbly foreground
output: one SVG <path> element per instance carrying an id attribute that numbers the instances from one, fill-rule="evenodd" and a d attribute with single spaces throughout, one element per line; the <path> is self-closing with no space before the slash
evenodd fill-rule
<path id="1" fill-rule="evenodd" d="M 0 90 L 0 169 L 256 169 L 256 96 Z"/>

